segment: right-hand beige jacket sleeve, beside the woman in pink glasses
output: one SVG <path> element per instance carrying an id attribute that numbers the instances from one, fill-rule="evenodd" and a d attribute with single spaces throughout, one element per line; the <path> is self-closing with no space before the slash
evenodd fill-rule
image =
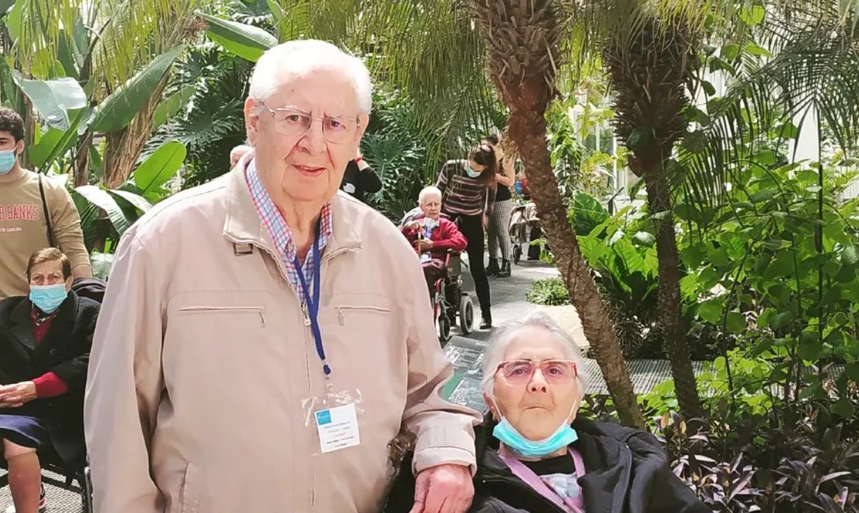
<path id="1" fill-rule="evenodd" d="M 430 296 L 426 293 L 423 271 L 417 265 L 406 269 L 405 281 L 411 286 L 406 297 L 406 315 L 411 328 L 408 333 L 408 390 L 403 424 L 416 437 L 412 470 L 415 474 L 425 468 L 445 463 L 464 465 L 475 470 L 474 425 L 482 420 L 473 410 L 442 399 L 442 388 L 454 375 L 454 366 L 438 344 Z"/>

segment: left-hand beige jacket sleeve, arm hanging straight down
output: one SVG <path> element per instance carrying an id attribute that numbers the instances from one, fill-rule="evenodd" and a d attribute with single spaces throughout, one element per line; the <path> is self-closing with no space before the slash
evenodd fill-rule
<path id="1" fill-rule="evenodd" d="M 164 327 L 156 250 L 129 230 L 119 244 L 90 358 L 84 429 L 94 510 L 162 513 L 149 474 L 149 446 L 164 389 Z"/>

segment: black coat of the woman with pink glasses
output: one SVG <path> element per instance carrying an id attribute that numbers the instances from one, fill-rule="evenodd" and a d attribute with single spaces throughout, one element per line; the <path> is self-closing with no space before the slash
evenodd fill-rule
<path id="1" fill-rule="evenodd" d="M 495 422 L 475 430 L 478 471 L 469 513 L 556 513 L 562 510 L 517 478 L 498 457 Z M 576 419 L 586 473 L 579 478 L 585 513 L 712 513 L 668 467 L 652 435 L 620 425 Z M 414 502 L 411 456 L 406 457 L 384 513 L 407 513 Z"/>

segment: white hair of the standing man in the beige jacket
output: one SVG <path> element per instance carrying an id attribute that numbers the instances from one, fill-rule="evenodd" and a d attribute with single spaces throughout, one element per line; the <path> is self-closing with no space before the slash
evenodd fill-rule
<path id="1" fill-rule="evenodd" d="M 268 100 L 290 78 L 320 69 L 349 75 L 355 86 L 359 114 L 369 115 L 373 106 L 373 85 L 367 66 L 358 57 L 317 39 L 288 41 L 265 51 L 253 68 L 248 96 L 254 100 Z"/>

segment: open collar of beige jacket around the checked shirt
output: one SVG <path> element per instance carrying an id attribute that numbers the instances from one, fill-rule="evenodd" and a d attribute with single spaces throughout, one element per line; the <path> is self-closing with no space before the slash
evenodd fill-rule
<path id="1" fill-rule="evenodd" d="M 229 172 L 223 235 L 233 242 L 237 252 L 240 245 L 253 244 L 277 255 L 271 235 L 259 219 L 251 191 L 247 187 L 245 167 L 249 162 L 247 157 L 242 158 Z M 362 246 L 362 240 L 352 224 L 355 213 L 352 212 L 354 208 L 351 200 L 338 191 L 332 198 L 331 206 L 332 235 L 328 239 L 323 260 L 326 255 L 333 256 L 341 250 L 357 250 Z"/>

